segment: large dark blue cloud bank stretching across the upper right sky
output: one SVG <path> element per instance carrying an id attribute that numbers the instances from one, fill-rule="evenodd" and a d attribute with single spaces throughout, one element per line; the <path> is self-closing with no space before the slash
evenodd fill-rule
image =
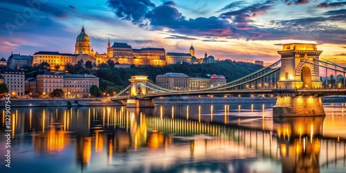
<path id="1" fill-rule="evenodd" d="M 172 1 L 164 1 L 160 6 L 150 0 L 109 0 L 108 6 L 116 17 L 131 21 L 140 28 L 160 30 L 170 33 L 166 39 L 191 39 L 189 36 L 203 37 L 205 41 L 213 37 L 246 40 L 304 39 L 342 44 L 345 30 L 334 24 L 343 22 L 345 10 L 320 13 L 315 17 L 268 21 L 271 26 L 256 26 L 255 17 L 264 15 L 280 3 L 307 4 L 307 0 L 266 0 L 246 4 L 234 1 L 217 12 L 218 17 L 197 17 L 188 19 Z"/>

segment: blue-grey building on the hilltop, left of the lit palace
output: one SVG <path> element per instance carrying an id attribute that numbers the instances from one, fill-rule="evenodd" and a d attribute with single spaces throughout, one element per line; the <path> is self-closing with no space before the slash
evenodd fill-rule
<path id="1" fill-rule="evenodd" d="M 20 55 L 20 54 L 11 54 L 10 57 L 8 57 L 7 60 L 7 66 L 10 69 L 17 69 L 25 67 L 25 66 L 31 66 L 33 64 L 33 56 L 30 55 Z"/>

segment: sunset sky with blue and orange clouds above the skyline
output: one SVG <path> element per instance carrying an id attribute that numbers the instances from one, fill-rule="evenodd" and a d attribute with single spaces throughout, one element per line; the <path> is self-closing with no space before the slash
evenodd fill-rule
<path id="1" fill-rule="evenodd" d="M 318 44 L 346 65 L 346 1 L 340 0 L 0 0 L 0 57 L 74 53 L 84 25 L 93 50 L 108 39 L 132 48 L 204 53 L 219 60 L 280 60 L 283 44 Z"/>

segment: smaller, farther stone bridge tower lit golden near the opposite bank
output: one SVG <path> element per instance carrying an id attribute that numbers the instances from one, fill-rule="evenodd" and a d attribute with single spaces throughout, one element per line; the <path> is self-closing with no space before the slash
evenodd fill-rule
<path id="1" fill-rule="evenodd" d="M 138 99 L 137 95 L 147 94 L 147 79 L 146 75 L 133 75 L 129 82 L 131 82 L 131 96 L 127 99 L 127 107 L 154 107 L 152 99 Z"/>

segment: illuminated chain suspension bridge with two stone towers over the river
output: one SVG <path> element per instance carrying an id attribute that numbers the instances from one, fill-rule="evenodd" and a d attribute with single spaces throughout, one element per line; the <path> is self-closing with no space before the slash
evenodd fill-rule
<path id="1" fill-rule="evenodd" d="M 277 103 L 273 116 L 325 116 L 320 97 L 346 95 L 346 67 L 324 60 L 316 44 L 284 44 L 277 51 L 277 62 L 226 84 L 199 90 L 170 90 L 158 86 L 145 75 L 131 76 L 131 84 L 114 95 L 111 100 L 121 101 L 127 107 L 154 107 L 153 98 L 183 95 L 242 95 L 275 94 Z M 325 82 L 320 69 L 325 69 Z M 335 80 L 328 83 L 328 70 Z M 336 75 L 343 75 L 337 80 Z"/>

